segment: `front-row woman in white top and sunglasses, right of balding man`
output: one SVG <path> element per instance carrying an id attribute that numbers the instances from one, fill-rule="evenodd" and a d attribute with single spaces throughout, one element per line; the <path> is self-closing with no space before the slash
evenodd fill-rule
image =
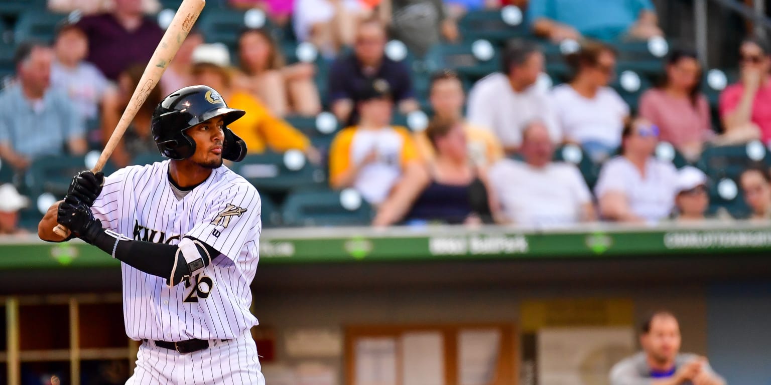
<path id="1" fill-rule="evenodd" d="M 604 219 L 655 223 L 675 205 L 678 174 L 670 162 L 653 156 L 658 127 L 635 119 L 624 127 L 621 156 L 605 162 L 594 193 Z"/>

